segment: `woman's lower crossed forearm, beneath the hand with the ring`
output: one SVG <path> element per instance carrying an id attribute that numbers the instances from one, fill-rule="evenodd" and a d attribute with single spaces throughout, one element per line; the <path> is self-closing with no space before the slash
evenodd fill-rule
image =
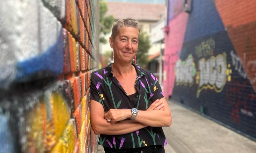
<path id="1" fill-rule="evenodd" d="M 120 135 L 131 133 L 145 127 L 147 126 L 136 121 L 119 121 L 115 124 L 110 124 L 106 120 L 102 120 L 102 122 L 92 126 L 92 129 L 96 134 Z"/>

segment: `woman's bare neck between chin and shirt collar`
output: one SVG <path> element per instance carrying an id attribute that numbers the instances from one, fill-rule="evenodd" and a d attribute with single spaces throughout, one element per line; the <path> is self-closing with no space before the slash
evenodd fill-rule
<path id="1" fill-rule="evenodd" d="M 130 75 L 131 72 L 133 72 L 133 66 L 131 62 L 123 64 L 117 64 L 114 62 L 112 64 L 112 70 L 115 76 L 125 76 L 127 74 Z"/>

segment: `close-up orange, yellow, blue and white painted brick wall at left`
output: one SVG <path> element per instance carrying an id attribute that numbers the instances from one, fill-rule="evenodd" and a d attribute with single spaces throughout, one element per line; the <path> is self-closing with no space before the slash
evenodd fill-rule
<path id="1" fill-rule="evenodd" d="M 96 152 L 88 102 L 97 5 L 1 1 L 0 153 Z"/>

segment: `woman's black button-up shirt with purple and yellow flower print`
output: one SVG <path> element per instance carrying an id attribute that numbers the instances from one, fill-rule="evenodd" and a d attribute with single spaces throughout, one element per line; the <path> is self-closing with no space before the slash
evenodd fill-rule
<path id="1" fill-rule="evenodd" d="M 138 95 L 136 102 L 130 100 L 121 84 L 118 82 L 111 64 L 91 73 L 91 99 L 103 105 L 105 113 L 109 109 L 147 110 L 157 99 L 163 98 L 162 89 L 157 78 L 148 70 L 134 65 L 137 72 L 135 88 Z M 121 135 L 100 134 L 99 144 L 115 149 L 139 148 L 150 145 L 166 145 L 162 127 L 146 127 L 132 133 Z"/>

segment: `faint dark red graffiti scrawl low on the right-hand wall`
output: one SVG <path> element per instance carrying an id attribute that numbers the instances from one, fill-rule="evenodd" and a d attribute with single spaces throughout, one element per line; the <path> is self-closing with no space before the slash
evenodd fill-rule
<path id="1" fill-rule="evenodd" d="M 251 110 L 255 95 L 253 90 L 248 91 L 249 85 L 248 80 L 243 83 L 236 81 L 227 85 L 226 100 L 231 105 L 231 119 L 236 123 L 240 123 L 239 112 L 253 117 Z"/>

